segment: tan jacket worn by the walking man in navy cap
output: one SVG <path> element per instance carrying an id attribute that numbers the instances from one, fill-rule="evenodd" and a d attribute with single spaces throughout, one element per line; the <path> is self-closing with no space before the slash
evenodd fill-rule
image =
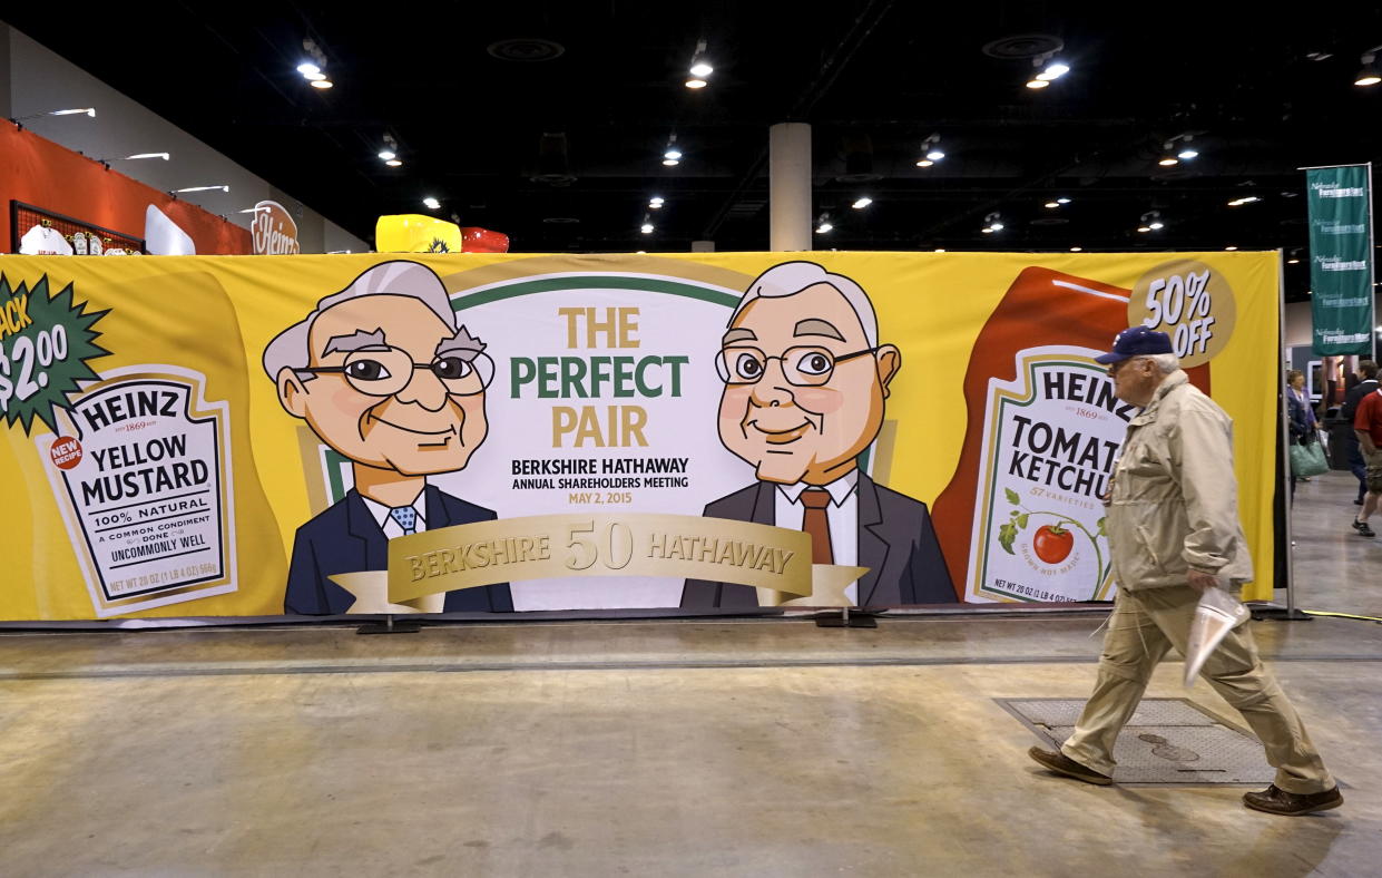
<path id="1" fill-rule="evenodd" d="M 1118 588 L 1184 585 L 1191 567 L 1229 582 L 1252 579 L 1233 420 L 1179 369 L 1128 423 L 1106 530 Z"/>

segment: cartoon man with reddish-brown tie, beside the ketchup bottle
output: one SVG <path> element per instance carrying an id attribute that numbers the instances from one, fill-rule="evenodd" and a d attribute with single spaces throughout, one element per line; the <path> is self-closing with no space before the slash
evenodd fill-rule
<path id="1" fill-rule="evenodd" d="M 952 603 L 926 505 L 875 484 L 858 455 L 883 426 L 901 366 L 878 343 L 864 289 L 821 265 L 763 272 L 739 300 L 716 359 L 720 441 L 759 481 L 713 501 L 705 516 L 811 534 L 813 563 L 868 567 L 846 596 L 858 606 Z M 745 585 L 688 579 L 684 608 L 756 607 Z"/>

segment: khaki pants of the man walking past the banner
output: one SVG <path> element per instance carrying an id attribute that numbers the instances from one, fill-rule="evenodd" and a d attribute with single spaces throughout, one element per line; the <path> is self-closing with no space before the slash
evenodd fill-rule
<path id="1" fill-rule="evenodd" d="M 1173 646 L 1182 654 L 1200 592 L 1189 585 L 1118 590 L 1095 694 L 1061 752 L 1101 774 L 1113 774 L 1114 740 L 1137 709 L 1157 662 Z M 1271 673 L 1262 666 L 1248 625 L 1229 632 L 1201 671 L 1223 700 L 1236 707 L 1267 749 L 1276 785 L 1312 794 L 1334 787 L 1300 718 Z"/>

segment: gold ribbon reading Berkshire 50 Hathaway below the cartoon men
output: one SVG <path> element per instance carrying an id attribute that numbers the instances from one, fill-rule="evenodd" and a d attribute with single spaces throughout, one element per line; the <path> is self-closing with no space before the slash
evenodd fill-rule
<path id="1" fill-rule="evenodd" d="M 847 607 L 867 567 L 811 564 L 803 531 L 701 516 L 557 514 L 457 524 L 388 541 L 388 571 L 332 577 L 350 613 L 439 613 L 442 595 L 564 577 L 681 577 L 759 590 L 761 606 Z"/>

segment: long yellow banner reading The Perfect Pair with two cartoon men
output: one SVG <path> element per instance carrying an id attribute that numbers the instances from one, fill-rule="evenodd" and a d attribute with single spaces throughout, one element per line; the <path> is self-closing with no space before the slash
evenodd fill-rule
<path id="1" fill-rule="evenodd" d="M 1093 357 L 1139 322 L 1233 416 L 1270 570 L 1277 271 L 0 257 L 0 618 L 1106 600 Z"/>

